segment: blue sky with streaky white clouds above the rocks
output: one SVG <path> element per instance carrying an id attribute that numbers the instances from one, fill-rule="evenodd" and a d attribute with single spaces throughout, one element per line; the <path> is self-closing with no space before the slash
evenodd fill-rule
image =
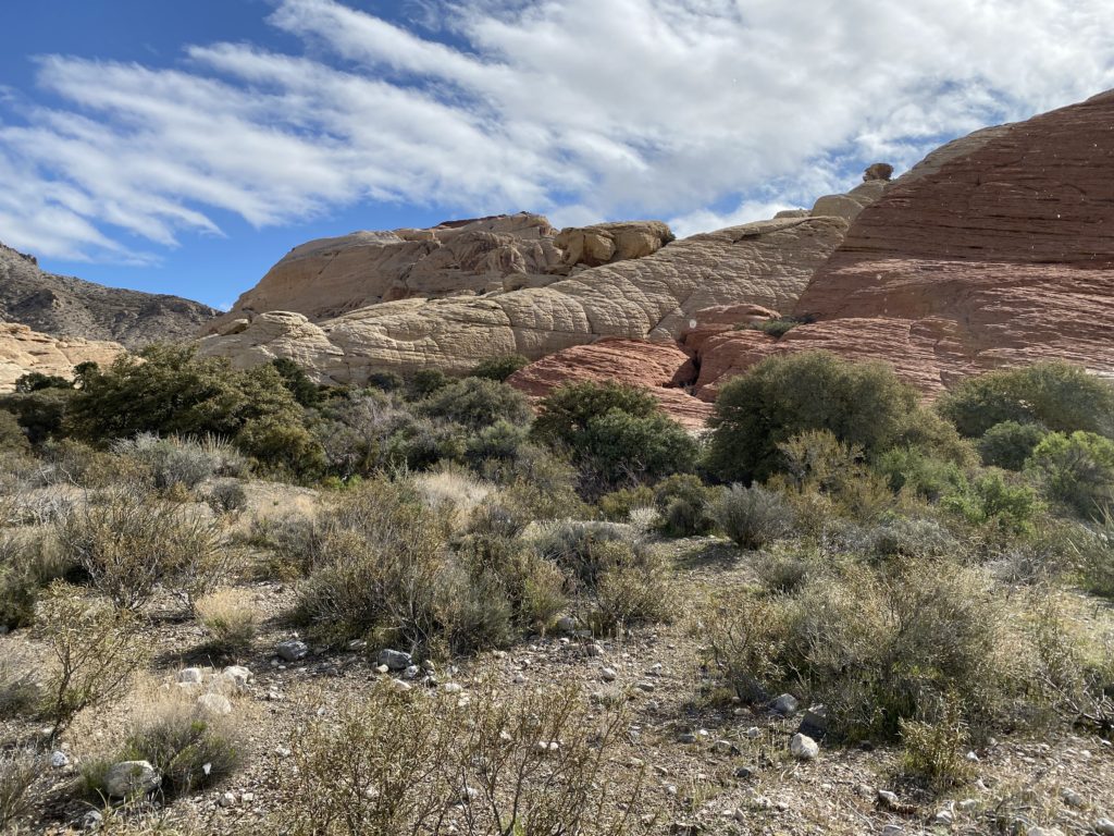
<path id="1" fill-rule="evenodd" d="M 1114 87 L 1110 0 L 0 0 L 0 242 L 226 308 L 500 212 L 680 235 Z"/>

